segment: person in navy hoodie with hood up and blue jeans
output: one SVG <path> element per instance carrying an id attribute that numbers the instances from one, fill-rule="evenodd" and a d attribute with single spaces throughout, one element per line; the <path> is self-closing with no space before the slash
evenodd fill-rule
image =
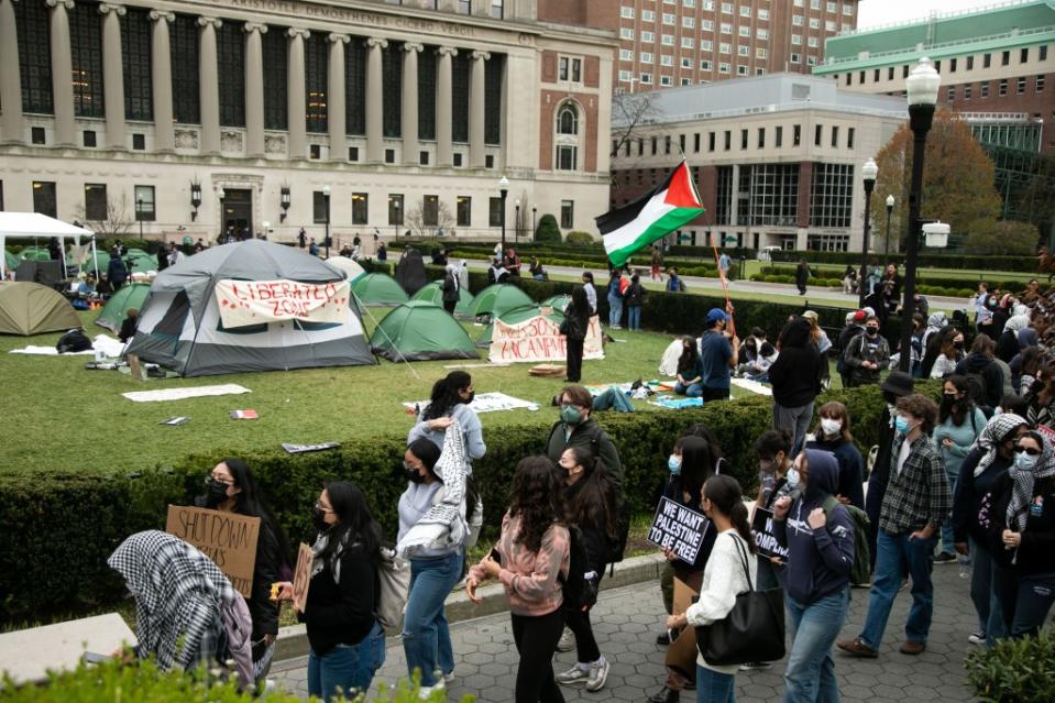
<path id="1" fill-rule="evenodd" d="M 789 552 L 784 603 L 791 647 L 784 701 L 837 701 L 832 645 L 849 609 L 854 521 L 844 505 L 831 499 L 839 482 L 835 454 L 806 449 L 794 469 L 798 495 L 778 498 L 773 510 L 773 534 Z M 826 510 L 831 503 L 835 505 Z"/>

